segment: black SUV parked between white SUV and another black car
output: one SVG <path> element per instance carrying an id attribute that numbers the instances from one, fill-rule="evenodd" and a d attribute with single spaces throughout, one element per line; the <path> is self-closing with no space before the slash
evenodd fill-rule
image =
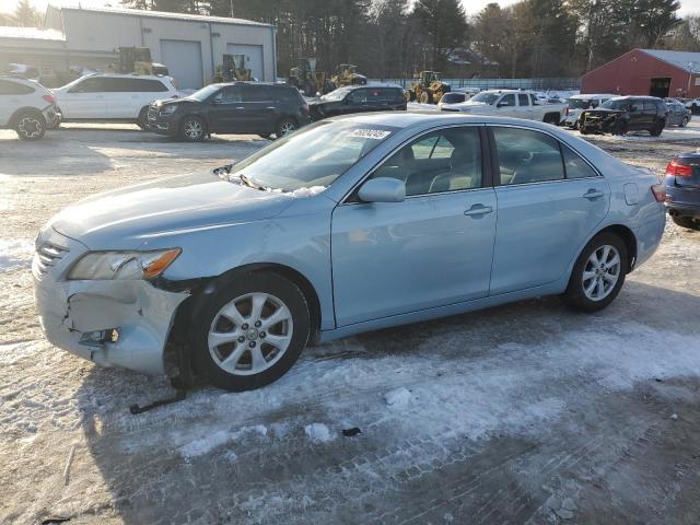
<path id="1" fill-rule="evenodd" d="M 155 101 L 149 106 L 149 129 L 188 141 L 211 133 L 278 138 L 310 124 L 308 105 L 287 84 L 234 82 L 210 84 L 184 98 Z"/>

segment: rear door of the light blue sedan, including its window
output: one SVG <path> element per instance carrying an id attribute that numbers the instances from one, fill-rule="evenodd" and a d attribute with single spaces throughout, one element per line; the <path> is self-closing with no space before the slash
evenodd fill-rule
<path id="1" fill-rule="evenodd" d="M 500 185 L 490 294 L 499 295 L 560 279 L 605 218 L 610 190 L 553 137 L 515 127 L 491 129 Z"/>

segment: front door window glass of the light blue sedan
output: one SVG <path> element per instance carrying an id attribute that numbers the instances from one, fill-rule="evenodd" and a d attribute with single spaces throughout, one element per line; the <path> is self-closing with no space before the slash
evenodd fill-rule
<path id="1" fill-rule="evenodd" d="M 477 127 L 435 131 L 405 145 L 371 178 L 393 177 L 406 184 L 406 196 L 481 187 L 481 141 Z"/>

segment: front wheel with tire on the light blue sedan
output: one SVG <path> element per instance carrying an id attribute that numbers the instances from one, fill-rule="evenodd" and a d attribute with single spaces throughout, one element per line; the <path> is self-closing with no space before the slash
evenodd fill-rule
<path id="1" fill-rule="evenodd" d="M 196 370 L 212 385 L 234 392 L 260 388 L 284 375 L 311 330 L 308 305 L 299 287 L 277 273 L 259 272 L 222 282 L 215 290 L 195 316 Z M 253 296 L 260 305 L 259 316 L 253 312 Z M 275 315 L 284 320 L 266 327 L 266 319 Z M 284 349 L 270 345 L 273 337 L 276 343 L 287 343 Z"/>

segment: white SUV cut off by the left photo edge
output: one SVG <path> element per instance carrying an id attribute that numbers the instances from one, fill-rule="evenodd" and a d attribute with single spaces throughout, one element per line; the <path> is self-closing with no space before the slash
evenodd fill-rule
<path id="1" fill-rule="evenodd" d="M 60 118 L 54 95 L 42 84 L 0 75 L 0 128 L 14 129 L 22 140 L 38 140 Z"/>

